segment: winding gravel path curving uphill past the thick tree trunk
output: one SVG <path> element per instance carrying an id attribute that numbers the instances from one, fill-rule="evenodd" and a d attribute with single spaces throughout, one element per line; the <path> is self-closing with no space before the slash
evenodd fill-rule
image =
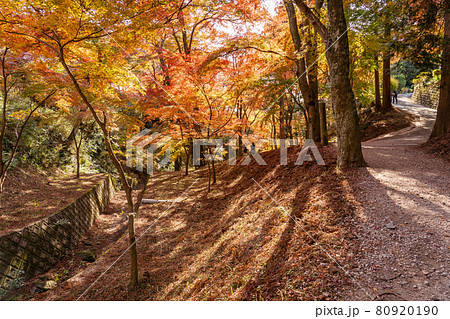
<path id="1" fill-rule="evenodd" d="M 399 97 L 396 107 L 420 117 L 414 128 L 363 143 L 367 168 L 351 185 L 361 253 L 353 272 L 378 300 L 450 300 L 450 165 L 416 145 L 436 111 Z M 360 289 L 346 299 L 366 299 Z"/>

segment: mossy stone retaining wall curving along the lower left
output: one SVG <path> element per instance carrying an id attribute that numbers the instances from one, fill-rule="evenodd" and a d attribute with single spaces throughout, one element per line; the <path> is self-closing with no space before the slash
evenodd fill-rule
<path id="1" fill-rule="evenodd" d="M 59 213 L 1 236 L 0 288 L 51 269 L 78 244 L 113 194 L 108 176 Z"/>

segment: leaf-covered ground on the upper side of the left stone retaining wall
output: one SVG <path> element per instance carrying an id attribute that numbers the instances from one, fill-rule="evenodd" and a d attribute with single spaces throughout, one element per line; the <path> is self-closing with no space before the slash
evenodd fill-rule
<path id="1" fill-rule="evenodd" d="M 104 174 L 53 174 L 17 168 L 8 173 L 0 194 L 0 235 L 59 212 L 100 182 Z"/>

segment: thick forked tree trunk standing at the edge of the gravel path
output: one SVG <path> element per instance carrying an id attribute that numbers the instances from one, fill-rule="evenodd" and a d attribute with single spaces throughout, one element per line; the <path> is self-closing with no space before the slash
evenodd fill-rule
<path id="1" fill-rule="evenodd" d="M 295 3 L 325 44 L 338 138 L 338 166 L 345 168 L 365 165 L 355 96 L 350 84 L 350 53 L 342 0 L 327 1 L 328 28 L 303 0 L 295 0 Z"/>

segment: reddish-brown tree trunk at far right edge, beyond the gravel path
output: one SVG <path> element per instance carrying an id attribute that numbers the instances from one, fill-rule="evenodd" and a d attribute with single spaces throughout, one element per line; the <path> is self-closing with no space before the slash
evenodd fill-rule
<path id="1" fill-rule="evenodd" d="M 430 138 L 450 133 L 450 1 L 447 1 L 445 10 L 440 97 L 436 122 Z"/>

